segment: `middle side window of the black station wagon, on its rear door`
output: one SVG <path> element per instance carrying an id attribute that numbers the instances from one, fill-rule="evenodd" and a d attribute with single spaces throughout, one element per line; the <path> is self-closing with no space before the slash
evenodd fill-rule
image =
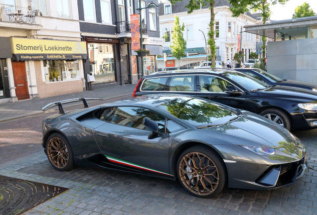
<path id="1" fill-rule="evenodd" d="M 194 91 L 195 76 L 174 76 L 169 82 L 168 91 Z"/>

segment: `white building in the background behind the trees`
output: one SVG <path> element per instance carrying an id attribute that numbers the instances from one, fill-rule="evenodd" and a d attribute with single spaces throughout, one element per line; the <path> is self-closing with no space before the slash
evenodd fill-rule
<path id="1" fill-rule="evenodd" d="M 183 0 L 172 5 L 168 0 L 159 4 L 159 24 L 161 37 L 167 32 L 170 36 L 164 40 L 163 53 L 167 56 L 171 56 L 171 33 L 172 26 L 174 25 L 174 16 L 179 16 L 180 24 L 184 23 L 185 31 L 184 38 L 187 41 L 188 53 L 187 58 L 180 59 L 180 67 L 192 67 L 199 65 L 206 60 L 205 52 L 205 39 L 207 37 L 208 24 L 210 22 L 210 10 L 209 5 L 203 6 L 201 9 L 194 10 L 191 14 L 187 14 L 187 8 L 189 0 Z M 230 4 L 228 0 L 217 0 L 214 7 L 215 15 L 215 30 L 218 30 L 216 35 L 216 60 L 221 61 L 224 64 L 227 59 L 233 59 L 234 54 L 239 48 L 239 34 L 241 26 L 254 25 L 257 19 L 251 15 L 251 13 L 242 14 L 239 17 L 232 17 L 230 11 Z M 199 31 L 201 30 L 201 31 Z M 244 29 L 242 28 L 242 31 Z M 242 50 L 245 51 L 246 56 L 244 61 L 249 59 L 249 54 L 256 51 L 256 39 L 255 35 L 251 33 L 242 33 Z M 208 47 L 207 47 L 208 49 Z M 207 51 L 208 54 L 208 51 Z M 178 67 L 178 60 L 172 57 L 167 57 L 166 63 L 162 58 L 158 58 L 158 68 L 164 67 L 175 68 Z"/>

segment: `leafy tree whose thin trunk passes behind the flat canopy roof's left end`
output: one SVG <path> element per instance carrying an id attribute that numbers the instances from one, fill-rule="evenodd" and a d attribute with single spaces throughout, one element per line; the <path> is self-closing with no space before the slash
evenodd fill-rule
<path id="1" fill-rule="evenodd" d="M 252 10 L 254 12 L 259 11 L 262 16 L 263 24 L 266 24 L 266 20 L 271 17 L 270 6 L 275 5 L 277 3 L 285 4 L 289 0 L 229 0 L 232 7 L 230 7 L 232 16 L 239 16 L 245 12 L 249 12 Z M 265 44 L 266 37 L 261 37 L 262 39 L 262 53 L 263 53 L 263 61 L 265 61 Z"/>

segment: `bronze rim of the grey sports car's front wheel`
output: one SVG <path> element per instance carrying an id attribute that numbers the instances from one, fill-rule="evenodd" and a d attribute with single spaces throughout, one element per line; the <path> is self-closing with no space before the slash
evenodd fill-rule
<path id="1" fill-rule="evenodd" d="M 203 153 L 190 152 L 185 154 L 179 162 L 178 171 L 183 185 L 196 195 L 210 195 L 219 185 L 218 168 Z"/>

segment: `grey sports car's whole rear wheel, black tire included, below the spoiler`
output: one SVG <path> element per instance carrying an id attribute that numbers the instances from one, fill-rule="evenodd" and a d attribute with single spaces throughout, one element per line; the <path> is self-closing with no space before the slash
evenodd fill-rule
<path id="1" fill-rule="evenodd" d="M 46 141 L 45 151 L 48 161 L 55 169 L 67 171 L 74 167 L 73 152 L 69 142 L 62 134 L 51 134 Z"/>

